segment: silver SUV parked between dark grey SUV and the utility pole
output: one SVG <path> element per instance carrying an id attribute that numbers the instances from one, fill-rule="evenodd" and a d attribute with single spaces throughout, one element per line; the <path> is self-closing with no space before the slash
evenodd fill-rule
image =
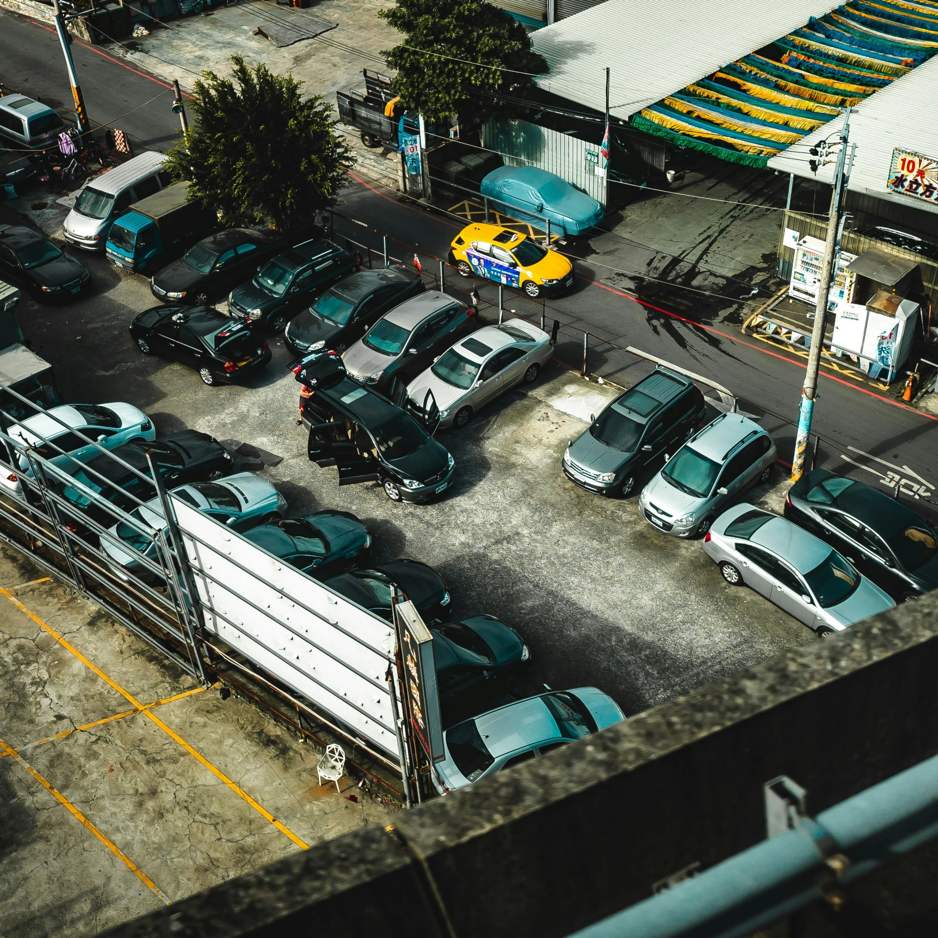
<path id="1" fill-rule="evenodd" d="M 721 414 L 667 461 L 639 496 L 645 520 L 674 537 L 704 535 L 723 507 L 775 462 L 772 437 L 739 414 Z"/>

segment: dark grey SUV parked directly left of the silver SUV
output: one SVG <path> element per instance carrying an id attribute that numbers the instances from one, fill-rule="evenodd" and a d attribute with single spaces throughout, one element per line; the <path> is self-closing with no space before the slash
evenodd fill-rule
<path id="1" fill-rule="evenodd" d="M 564 475 L 598 495 L 628 495 L 646 466 L 674 452 L 706 416 L 700 389 L 683 374 L 658 368 L 628 388 L 564 453 Z"/>

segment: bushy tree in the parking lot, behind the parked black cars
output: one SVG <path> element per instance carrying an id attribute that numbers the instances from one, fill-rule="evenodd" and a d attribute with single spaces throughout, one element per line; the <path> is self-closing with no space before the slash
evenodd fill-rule
<path id="1" fill-rule="evenodd" d="M 189 200 L 219 213 L 223 225 L 271 224 L 302 234 L 314 213 L 335 204 L 352 166 L 332 105 L 300 98 L 300 82 L 232 56 L 231 79 L 206 71 L 196 81 L 196 120 L 168 154 L 167 168 L 188 179 Z"/>

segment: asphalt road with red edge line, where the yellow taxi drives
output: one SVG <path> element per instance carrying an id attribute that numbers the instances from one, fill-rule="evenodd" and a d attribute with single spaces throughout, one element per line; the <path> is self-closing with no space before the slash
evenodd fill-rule
<path id="1" fill-rule="evenodd" d="M 0 12 L 0 23 L 0 81 L 11 88 L 28 88 L 28 93 L 50 103 L 67 103 L 70 92 L 66 72 L 48 27 L 7 12 Z M 141 145 L 166 149 L 174 143 L 178 125 L 169 107 L 169 93 L 144 103 L 159 95 L 162 82 L 116 61 L 112 48 L 101 50 L 75 42 L 72 49 L 94 121 L 109 122 L 139 107 L 127 117 L 120 117 L 116 126 L 127 129 Z M 340 208 L 343 214 L 436 256 L 446 256 L 449 242 L 461 227 L 456 219 L 402 204 L 386 190 L 361 182 L 346 191 Z M 380 238 L 359 225 L 337 219 L 336 231 L 376 249 L 381 247 Z M 609 238 L 604 235 L 602 240 Z M 602 253 L 596 244 L 592 247 L 596 256 Z M 399 250 L 406 257 L 405 250 Z M 646 251 L 641 246 L 634 250 L 635 264 L 630 269 L 639 269 Z M 615 256 L 617 265 L 627 267 L 628 245 L 616 245 Z M 754 405 L 751 409 L 764 409 L 796 421 L 804 378 L 802 359 L 743 337 L 736 325 L 723 321 L 719 305 L 708 303 L 705 297 L 695 301 L 695 296 L 688 294 L 676 303 L 660 298 L 654 304 L 639 303 L 620 289 L 621 279 L 607 268 L 591 265 L 589 257 L 577 262 L 577 272 L 573 291 L 552 300 L 549 315 L 553 313 L 563 322 L 579 325 L 617 345 L 635 346 L 718 381 Z M 834 446 L 821 447 L 819 464 L 870 483 L 878 479 L 887 486 L 894 484 L 891 473 L 906 479 L 903 491 L 925 484 L 926 492 L 935 492 L 935 419 L 827 371 L 822 373 L 814 430 Z M 768 429 L 777 438 L 779 452 L 791 459 L 794 427 L 775 421 Z M 845 460 L 841 454 L 866 468 Z M 938 496 L 931 497 L 938 501 Z M 919 502 L 916 507 L 925 506 Z"/>

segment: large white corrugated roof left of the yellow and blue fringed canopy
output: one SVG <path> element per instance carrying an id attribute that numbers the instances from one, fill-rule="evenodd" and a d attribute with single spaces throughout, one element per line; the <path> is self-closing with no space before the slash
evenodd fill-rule
<path id="1" fill-rule="evenodd" d="M 531 34 L 545 91 L 627 119 L 839 6 L 832 0 L 607 0 Z"/>

